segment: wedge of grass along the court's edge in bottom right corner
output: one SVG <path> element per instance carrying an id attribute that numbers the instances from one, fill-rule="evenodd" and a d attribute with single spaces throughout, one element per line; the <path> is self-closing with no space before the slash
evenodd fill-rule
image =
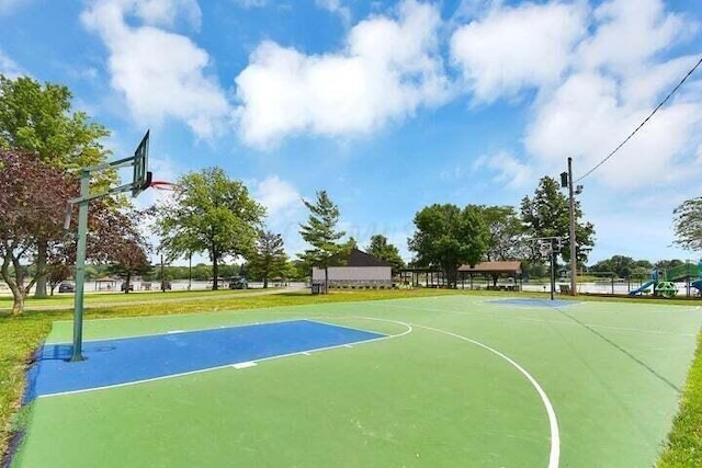
<path id="1" fill-rule="evenodd" d="M 659 468 L 702 467 L 702 331 Z"/>

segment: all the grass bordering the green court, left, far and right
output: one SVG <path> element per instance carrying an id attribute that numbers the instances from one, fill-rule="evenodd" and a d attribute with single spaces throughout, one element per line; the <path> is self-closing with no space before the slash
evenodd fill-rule
<path id="1" fill-rule="evenodd" d="M 308 292 L 282 293 L 262 296 L 241 296 L 241 292 L 169 292 L 139 294 L 106 294 L 87 296 L 86 319 L 136 317 L 155 315 L 178 315 L 190 312 L 212 312 L 217 310 L 265 309 L 302 306 L 307 304 L 346 303 L 356 300 L 421 298 L 445 295 L 496 296 L 491 292 L 463 293 L 461 290 L 415 289 L 415 290 L 335 290 L 329 295 L 312 296 Z M 505 295 L 507 297 L 507 294 Z M 543 294 L 521 294 L 519 297 L 546 298 Z M 169 299 L 163 301 L 162 299 Z M 173 300 L 170 300 L 173 299 Z M 448 299 L 448 298 L 446 298 Z M 611 298 L 579 296 L 578 300 L 613 301 Z M 656 304 L 653 299 L 623 298 L 613 303 Z M 661 305 L 680 304 L 691 306 L 688 300 L 666 300 Z M 52 305 L 57 310 L 32 310 L 32 307 Z M 72 318 L 72 296 L 56 299 L 30 300 L 29 311 L 19 318 L 2 313 L 9 304 L 0 300 L 0 453 L 10 444 L 11 432 L 21 426 L 21 415 L 16 413 L 24 387 L 24 369 L 34 350 L 41 345 L 56 320 Z M 65 306 L 65 308 L 64 308 Z M 271 310 L 275 312 L 275 310 Z M 284 366 L 283 366 L 284 367 Z M 265 383 L 261 383 L 265 388 Z M 342 389 L 339 389 L 341 391 Z M 135 413 L 136 414 L 136 413 Z M 658 466 L 682 467 L 702 466 L 702 335 L 698 336 L 698 350 L 683 395 L 680 410 L 673 421 Z"/>

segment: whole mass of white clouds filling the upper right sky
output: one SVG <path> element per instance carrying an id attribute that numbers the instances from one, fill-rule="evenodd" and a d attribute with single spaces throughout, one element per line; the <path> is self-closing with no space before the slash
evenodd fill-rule
<path id="1" fill-rule="evenodd" d="M 535 90 L 524 136 L 530 165 L 564 165 L 570 156 L 577 176 L 607 157 L 695 62 L 663 53 L 697 30 L 660 0 L 609 0 L 595 10 L 557 1 L 498 3 L 456 30 L 451 55 L 478 101 Z M 596 178 L 630 190 L 699 175 L 691 155 L 701 144 L 702 90 L 692 84 Z"/>

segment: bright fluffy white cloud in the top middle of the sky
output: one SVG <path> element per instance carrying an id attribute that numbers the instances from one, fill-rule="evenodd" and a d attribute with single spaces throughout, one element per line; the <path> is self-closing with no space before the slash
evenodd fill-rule
<path id="1" fill-rule="evenodd" d="M 269 147 L 291 134 L 367 134 L 446 99 L 439 12 L 412 0 L 374 16 L 337 54 L 308 56 L 265 42 L 236 78 L 242 139 Z"/>

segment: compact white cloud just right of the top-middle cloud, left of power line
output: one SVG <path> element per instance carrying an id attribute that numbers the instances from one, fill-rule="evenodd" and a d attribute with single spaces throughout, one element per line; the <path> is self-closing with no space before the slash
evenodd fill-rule
<path id="1" fill-rule="evenodd" d="M 451 56 L 480 101 L 556 83 L 586 34 L 587 10 L 550 2 L 496 8 L 451 37 Z"/>

